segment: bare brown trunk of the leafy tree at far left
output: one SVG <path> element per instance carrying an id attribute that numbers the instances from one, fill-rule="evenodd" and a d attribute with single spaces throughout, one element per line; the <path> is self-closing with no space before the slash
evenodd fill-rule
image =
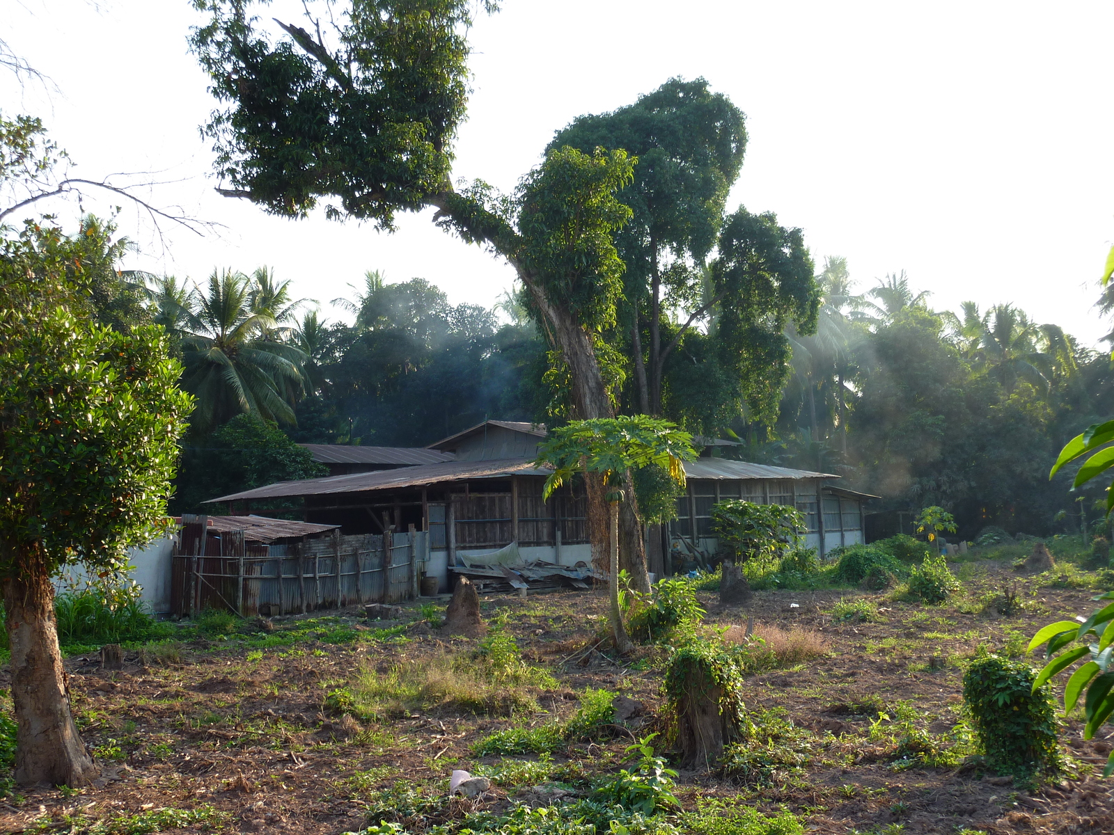
<path id="1" fill-rule="evenodd" d="M 70 714 L 58 648 L 55 590 L 46 562 L 32 554 L 22 574 L 3 580 L 11 648 L 11 698 L 18 723 L 16 782 L 70 787 L 98 774 Z"/>

